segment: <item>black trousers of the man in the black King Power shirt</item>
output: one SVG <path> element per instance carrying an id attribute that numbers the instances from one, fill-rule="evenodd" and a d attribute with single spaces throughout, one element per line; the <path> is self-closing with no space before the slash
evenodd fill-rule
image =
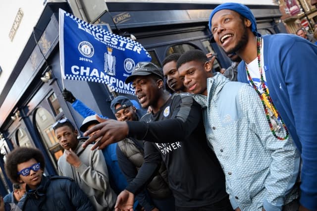
<path id="1" fill-rule="evenodd" d="M 227 196 L 219 202 L 215 202 L 211 205 L 197 208 L 176 207 L 176 211 L 233 211 L 233 209 L 230 204 L 229 196 Z"/>

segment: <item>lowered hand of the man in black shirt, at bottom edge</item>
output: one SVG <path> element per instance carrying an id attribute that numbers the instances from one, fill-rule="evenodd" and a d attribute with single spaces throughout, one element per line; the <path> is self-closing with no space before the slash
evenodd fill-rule
<path id="1" fill-rule="evenodd" d="M 117 197 L 115 211 L 133 211 L 134 194 L 123 190 Z"/>

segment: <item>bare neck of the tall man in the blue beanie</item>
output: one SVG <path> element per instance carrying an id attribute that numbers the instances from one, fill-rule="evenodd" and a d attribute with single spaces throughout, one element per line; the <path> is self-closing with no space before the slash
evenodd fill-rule
<path id="1" fill-rule="evenodd" d="M 237 54 L 244 60 L 247 64 L 253 61 L 257 57 L 257 37 L 251 32 L 249 33 L 249 39 L 245 47 L 239 51 Z"/>

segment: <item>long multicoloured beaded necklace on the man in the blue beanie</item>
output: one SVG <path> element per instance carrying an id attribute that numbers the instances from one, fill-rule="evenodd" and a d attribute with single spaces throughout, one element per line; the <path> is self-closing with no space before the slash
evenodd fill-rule
<path id="1" fill-rule="evenodd" d="M 278 118 L 279 118 L 280 121 L 282 122 L 283 128 L 284 128 L 285 131 L 286 131 L 285 137 L 279 137 L 279 136 L 276 135 L 275 130 L 274 130 L 273 125 L 272 125 L 271 120 L 270 120 L 270 115 L 269 115 L 267 106 L 265 105 L 265 102 L 264 102 L 264 97 L 263 97 L 263 96 L 261 95 L 261 93 L 259 92 L 258 87 L 254 84 L 254 82 L 253 82 L 253 80 L 252 80 L 252 78 L 251 78 L 251 76 L 250 76 L 250 73 L 249 73 L 247 64 L 246 64 L 245 67 L 246 67 L 247 76 L 248 76 L 248 78 L 249 78 L 249 80 L 250 80 L 250 83 L 252 84 L 253 88 L 254 88 L 255 91 L 258 93 L 258 95 L 259 95 L 259 97 L 260 97 L 260 99 L 261 99 L 261 101 L 262 101 L 262 105 L 263 105 L 263 107 L 264 107 L 264 112 L 265 112 L 265 115 L 266 115 L 266 119 L 267 119 L 269 128 L 270 128 L 270 130 L 271 130 L 273 136 L 274 136 L 275 138 L 277 138 L 278 140 L 285 140 L 285 139 L 288 138 L 288 135 L 289 135 L 289 134 L 288 134 L 287 127 L 286 127 L 286 125 L 285 125 L 285 123 L 284 123 L 282 117 L 280 116 L 279 112 L 277 111 L 275 105 L 273 104 L 273 101 L 272 101 L 272 99 L 271 99 L 271 97 L 270 97 L 270 95 L 269 95 L 269 93 L 268 93 L 268 91 L 267 91 L 267 89 L 266 89 L 265 83 L 264 83 L 264 78 L 263 78 L 263 73 L 262 73 L 262 66 L 261 66 L 261 46 L 262 46 L 262 39 L 261 39 L 261 37 L 258 37 L 258 38 L 257 38 L 257 57 L 258 57 L 258 66 L 259 66 L 260 77 L 261 77 L 261 86 L 262 86 L 263 92 L 265 93 L 266 99 L 267 99 L 268 102 L 270 103 L 271 107 L 274 108 L 274 110 L 275 110 L 276 113 L 277 113 Z"/>

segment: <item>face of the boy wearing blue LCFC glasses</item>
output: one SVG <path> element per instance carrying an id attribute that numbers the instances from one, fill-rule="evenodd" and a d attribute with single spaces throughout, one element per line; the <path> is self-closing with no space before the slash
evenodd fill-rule
<path id="1" fill-rule="evenodd" d="M 37 163 L 36 159 L 34 159 L 34 158 L 29 159 L 26 162 L 19 163 L 17 165 L 17 170 L 19 172 L 24 168 L 29 168 L 30 166 L 32 166 L 35 163 Z M 29 175 L 27 175 L 27 176 L 23 176 L 21 174 L 19 175 L 19 182 L 21 182 L 21 183 L 25 182 L 25 184 L 27 184 L 30 189 L 34 190 L 40 185 L 41 180 L 42 180 L 42 174 L 43 174 L 42 166 L 41 166 L 41 169 L 38 171 L 34 171 L 34 170 L 30 169 Z"/>

